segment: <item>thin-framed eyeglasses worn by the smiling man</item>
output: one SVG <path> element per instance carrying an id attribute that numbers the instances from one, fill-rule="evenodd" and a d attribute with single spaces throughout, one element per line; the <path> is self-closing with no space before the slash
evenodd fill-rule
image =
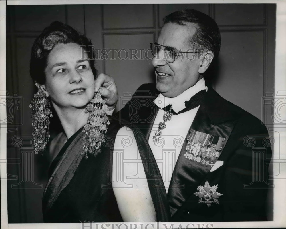
<path id="1" fill-rule="evenodd" d="M 160 49 L 162 49 L 162 47 L 164 50 L 164 59 L 169 63 L 173 63 L 181 53 L 199 53 L 199 51 L 178 52 L 171 47 L 159 45 L 158 43 L 150 43 L 150 49 L 152 51 L 152 55 L 155 57 L 157 53 L 160 51 Z"/>

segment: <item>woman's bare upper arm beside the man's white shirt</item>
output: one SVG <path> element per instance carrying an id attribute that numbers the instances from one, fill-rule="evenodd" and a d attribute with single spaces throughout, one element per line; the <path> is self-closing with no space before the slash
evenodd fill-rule
<path id="1" fill-rule="evenodd" d="M 154 222 L 154 205 L 130 128 L 122 127 L 117 133 L 112 167 L 112 186 L 124 222 Z"/>

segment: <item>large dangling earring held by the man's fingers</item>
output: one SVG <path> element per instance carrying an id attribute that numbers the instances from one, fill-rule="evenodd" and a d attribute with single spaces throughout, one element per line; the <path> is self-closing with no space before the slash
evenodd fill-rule
<path id="1" fill-rule="evenodd" d="M 101 143 L 105 141 L 103 132 L 107 131 L 106 124 L 110 124 L 106 116 L 107 111 L 106 102 L 101 98 L 99 92 L 96 93 L 84 111 L 85 113 L 89 112 L 87 124 L 82 129 L 85 134 L 81 138 L 84 141 L 82 150 L 84 158 L 88 158 L 88 154 L 96 156 L 101 152 Z"/>

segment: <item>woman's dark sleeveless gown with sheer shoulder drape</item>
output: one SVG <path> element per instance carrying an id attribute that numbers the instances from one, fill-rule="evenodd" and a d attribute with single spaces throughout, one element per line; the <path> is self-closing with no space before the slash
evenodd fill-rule
<path id="1" fill-rule="evenodd" d="M 106 141 L 102 143 L 102 151 L 96 157 L 90 155 L 85 159 L 80 155 L 83 146 L 80 140 L 82 128 L 67 140 L 49 169 L 51 178 L 43 196 L 45 222 L 123 221 L 111 184 L 112 150 L 121 127 L 117 120 L 110 118 Z M 156 218 L 168 221 L 169 206 L 156 161 L 140 130 L 130 128 L 137 141 Z"/>

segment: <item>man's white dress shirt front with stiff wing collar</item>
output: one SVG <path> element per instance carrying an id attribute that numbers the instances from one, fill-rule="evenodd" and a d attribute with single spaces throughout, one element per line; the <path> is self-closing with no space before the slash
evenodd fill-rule
<path id="1" fill-rule="evenodd" d="M 188 88 L 182 94 L 174 98 L 164 97 L 162 94 L 158 95 L 154 100 L 154 103 L 160 108 L 164 108 L 171 104 L 172 109 L 178 113 L 185 108 L 185 101 L 190 100 L 193 95 L 205 89 L 206 85 L 202 78 L 194 86 Z M 148 143 L 158 164 L 166 192 L 168 192 L 172 173 L 184 144 L 184 140 L 199 107 L 200 106 L 178 115 L 174 114 L 172 119 L 165 123 L 166 128 L 162 130 L 162 134 L 160 135 L 161 138 L 159 138 L 156 143 L 153 142 L 153 136 L 155 136 L 155 132 L 158 131 L 159 122 L 163 122 L 165 111 L 159 109 L 154 120 Z"/>

